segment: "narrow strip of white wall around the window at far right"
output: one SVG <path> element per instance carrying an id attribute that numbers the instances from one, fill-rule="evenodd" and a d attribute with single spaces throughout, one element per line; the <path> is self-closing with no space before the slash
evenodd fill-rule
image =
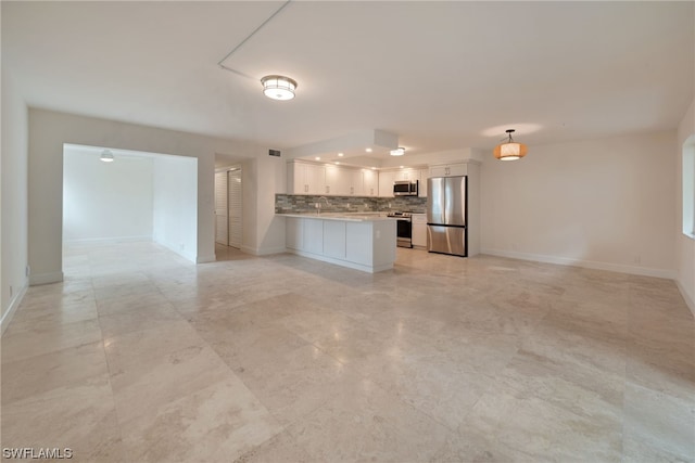
<path id="1" fill-rule="evenodd" d="M 683 120 L 678 129 L 678 146 L 675 150 L 675 204 L 677 204 L 677 222 L 675 222 L 675 248 L 677 248 L 677 283 L 681 290 L 683 298 L 687 303 L 691 311 L 695 316 L 695 241 L 682 233 L 682 202 L 683 197 L 683 143 L 695 134 L 695 99 L 684 115 Z"/>

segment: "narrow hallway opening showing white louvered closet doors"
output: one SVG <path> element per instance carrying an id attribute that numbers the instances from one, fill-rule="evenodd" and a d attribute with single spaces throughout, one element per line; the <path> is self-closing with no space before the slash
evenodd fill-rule
<path id="1" fill-rule="evenodd" d="M 238 249 L 243 244 L 241 168 L 215 172 L 215 243 Z"/>

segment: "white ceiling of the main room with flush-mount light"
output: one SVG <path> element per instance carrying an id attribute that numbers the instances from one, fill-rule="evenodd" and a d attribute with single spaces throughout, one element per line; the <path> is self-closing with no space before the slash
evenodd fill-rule
<path id="1" fill-rule="evenodd" d="M 2 1 L 3 73 L 31 106 L 280 150 L 380 130 L 406 157 L 673 129 L 693 100 L 692 1 L 293 1 L 220 68 L 282 4 Z"/>

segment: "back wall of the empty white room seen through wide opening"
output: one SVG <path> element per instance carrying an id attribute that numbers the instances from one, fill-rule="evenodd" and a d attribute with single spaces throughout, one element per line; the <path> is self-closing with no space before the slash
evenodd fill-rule
<path id="1" fill-rule="evenodd" d="M 63 241 L 151 240 L 153 159 L 99 157 L 93 150 L 64 150 Z"/>

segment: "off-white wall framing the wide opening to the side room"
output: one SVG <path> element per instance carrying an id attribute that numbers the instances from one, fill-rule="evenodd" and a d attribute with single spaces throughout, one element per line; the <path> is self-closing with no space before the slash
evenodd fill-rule
<path id="1" fill-rule="evenodd" d="M 253 158 L 257 146 L 192 133 L 29 108 L 28 261 L 31 284 L 61 281 L 63 143 L 198 158 L 197 260 L 214 260 L 215 153 Z M 267 151 L 266 151 L 267 153 Z M 266 182 L 263 180 L 262 185 Z M 261 217 L 273 210 L 258 211 Z M 251 239 L 257 236 L 255 233 Z M 249 243 L 257 248 L 257 243 Z"/>

